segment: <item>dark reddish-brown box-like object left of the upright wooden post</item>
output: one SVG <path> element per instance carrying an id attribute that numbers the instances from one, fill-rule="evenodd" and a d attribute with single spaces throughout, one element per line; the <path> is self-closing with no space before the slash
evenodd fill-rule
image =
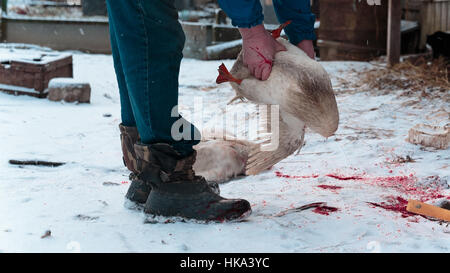
<path id="1" fill-rule="evenodd" d="M 367 61 L 386 51 L 388 1 L 321 0 L 321 60 Z"/>

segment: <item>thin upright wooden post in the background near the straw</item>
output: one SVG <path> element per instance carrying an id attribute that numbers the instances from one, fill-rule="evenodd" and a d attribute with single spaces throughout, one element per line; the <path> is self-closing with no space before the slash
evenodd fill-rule
<path id="1" fill-rule="evenodd" d="M 400 0 L 389 0 L 387 57 L 390 66 L 400 61 L 400 24 L 402 6 Z"/>

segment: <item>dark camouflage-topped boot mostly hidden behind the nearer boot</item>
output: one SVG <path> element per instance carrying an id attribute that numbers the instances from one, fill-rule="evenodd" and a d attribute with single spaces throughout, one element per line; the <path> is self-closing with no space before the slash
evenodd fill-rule
<path id="1" fill-rule="evenodd" d="M 119 124 L 120 142 L 122 144 L 123 164 L 131 171 L 130 180 L 131 185 L 128 188 L 126 198 L 136 203 L 145 203 L 150 193 L 150 185 L 137 179 L 137 159 L 134 151 L 134 144 L 140 138 L 136 127 L 124 126 Z"/>

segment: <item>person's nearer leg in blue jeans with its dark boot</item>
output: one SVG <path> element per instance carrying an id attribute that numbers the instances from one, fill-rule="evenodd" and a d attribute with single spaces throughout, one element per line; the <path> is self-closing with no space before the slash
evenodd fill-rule
<path id="1" fill-rule="evenodd" d="M 187 123 L 189 140 L 175 141 L 171 135 L 178 120 L 171 114 L 178 104 L 185 40 L 174 0 L 108 0 L 108 8 L 141 137 L 141 143 L 134 145 L 137 175 L 132 185 L 151 188 L 145 211 L 202 220 L 231 220 L 249 214 L 246 200 L 225 199 L 195 175 L 192 146 L 199 141 L 193 140 L 194 126 Z"/>

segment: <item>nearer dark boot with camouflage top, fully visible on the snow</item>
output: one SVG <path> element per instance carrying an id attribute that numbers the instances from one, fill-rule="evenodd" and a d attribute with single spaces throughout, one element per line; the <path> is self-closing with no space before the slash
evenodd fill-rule
<path id="1" fill-rule="evenodd" d="M 246 200 L 225 199 L 203 177 L 195 175 L 195 152 L 182 157 L 165 143 L 134 147 L 137 178 L 152 188 L 145 203 L 146 213 L 214 221 L 234 220 L 251 213 Z"/>

